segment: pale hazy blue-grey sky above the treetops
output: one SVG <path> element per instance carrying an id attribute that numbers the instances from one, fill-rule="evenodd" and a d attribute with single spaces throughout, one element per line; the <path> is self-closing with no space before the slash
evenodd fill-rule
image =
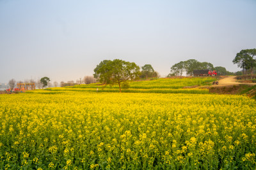
<path id="1" fill-rule="evenodd" d="M 151 64 L 161 76 L 196 59 L 238 71 L 256 48 L 255 0 L 0 0 L 0 82 L 76 81 L 104 59 Z"/>

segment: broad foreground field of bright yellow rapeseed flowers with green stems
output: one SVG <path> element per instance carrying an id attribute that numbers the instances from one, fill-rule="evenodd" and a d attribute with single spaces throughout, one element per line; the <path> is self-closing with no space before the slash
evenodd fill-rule
<path id="1" fill-rule="evenodd" d="M 245 96 L 38 90 L 0 101 L 0 169 L 256 167 Z"/>

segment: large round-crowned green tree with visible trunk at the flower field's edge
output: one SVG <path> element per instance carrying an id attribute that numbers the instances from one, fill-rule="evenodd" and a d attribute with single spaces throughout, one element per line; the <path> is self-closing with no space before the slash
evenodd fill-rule
<path id="1" fill-rule="evenodd" d="M 118 84 L 120 92 L 122 92 L 121 83 L 140 76 L 140 67 L 134 62 L 115 59 L 113 61 L 108 60 L 104 64 L 101 64 L 98 69 L 97 67 L 95 68 L 95 75 L 99 77 L 99 81 L 106 85 Z"/>

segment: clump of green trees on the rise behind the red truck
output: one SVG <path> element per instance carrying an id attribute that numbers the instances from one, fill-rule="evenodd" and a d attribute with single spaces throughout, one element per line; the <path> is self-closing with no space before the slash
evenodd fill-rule
<path id="1" fill-rule="evenodd" d="M 171 67 L 171 73 L 168 74 L 170 76 L 182 76 L 186 74 L 186 76 L 193 76 L 193 71 L 195 69 L 209 69 L 216 70 L 218 75 L 233 75 L 234 73 L 227 71 L 225 67 L 214 67 L 211 62 L 199 62 L 195 59 L 189 59 L 186 61 L 180 61 L 174 64 Z"/>

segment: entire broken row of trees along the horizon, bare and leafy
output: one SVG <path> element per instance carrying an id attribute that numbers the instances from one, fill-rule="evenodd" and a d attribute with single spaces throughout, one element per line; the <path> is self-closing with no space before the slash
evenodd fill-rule
<path id="1" fill-rule="evenodd" d="M 235 59 L 233 60 L 234 64 L 241 67 L 244 71 L 248 71 L 250 69 L 251 74 L 253 73 L 253 67 L 256 66 L 256 49 L 247 49 L 241 50 L 241 52 L 237 53 Z M 141 70 L 140 70 L 141 69 Z M 186 61 L 180 61 L 174 64 L 171 67 L 171 73 L 168 74 L 170 76 L 182 76 L 186 74 L 186 76 L 193 75 L 193 70 L 195 69 L 210 69 L 216 70 L 218 75 L 231 75 L 234 74 L 232 72 L 227 71 L 225 67 L 214 67 L 210 62 L 199 62 L 195 59 L 189 59 Z M 145 64 L 141 68 L 137 66 L 134 62 L 127 62 L 124 60 L 102 60 L 97 67 L 94 69 L 95 74 L 93 76 L 84 76 L 83 80 L 80 78 L 76 81 L 61 81 L 60 85 L 57 81 L 54 81 L 53 85 L 50 82 L 50 79 L 47 77 L 41 78 L 40 80 L 34 81 L 33 79 L 28 81 L 18 81 L 17 83 L 35 83 L 38 89 L 42 89 L 43 87 L 65 87 L 71 85 L 79 85 L 79 84 L 90 84 L 96 83 L 96 81 L 100 81 L 100 83 L 104 85 L 108 84 L 118 84 L 121 92 L 121 85 L 127 80 L 136 80 L 139 78 L 153 78 L 159 77 L 157 71 L 150 64 Z M 15 87 L 16 81 L 14 79 L 9 81 L 10 89 Z"/>

